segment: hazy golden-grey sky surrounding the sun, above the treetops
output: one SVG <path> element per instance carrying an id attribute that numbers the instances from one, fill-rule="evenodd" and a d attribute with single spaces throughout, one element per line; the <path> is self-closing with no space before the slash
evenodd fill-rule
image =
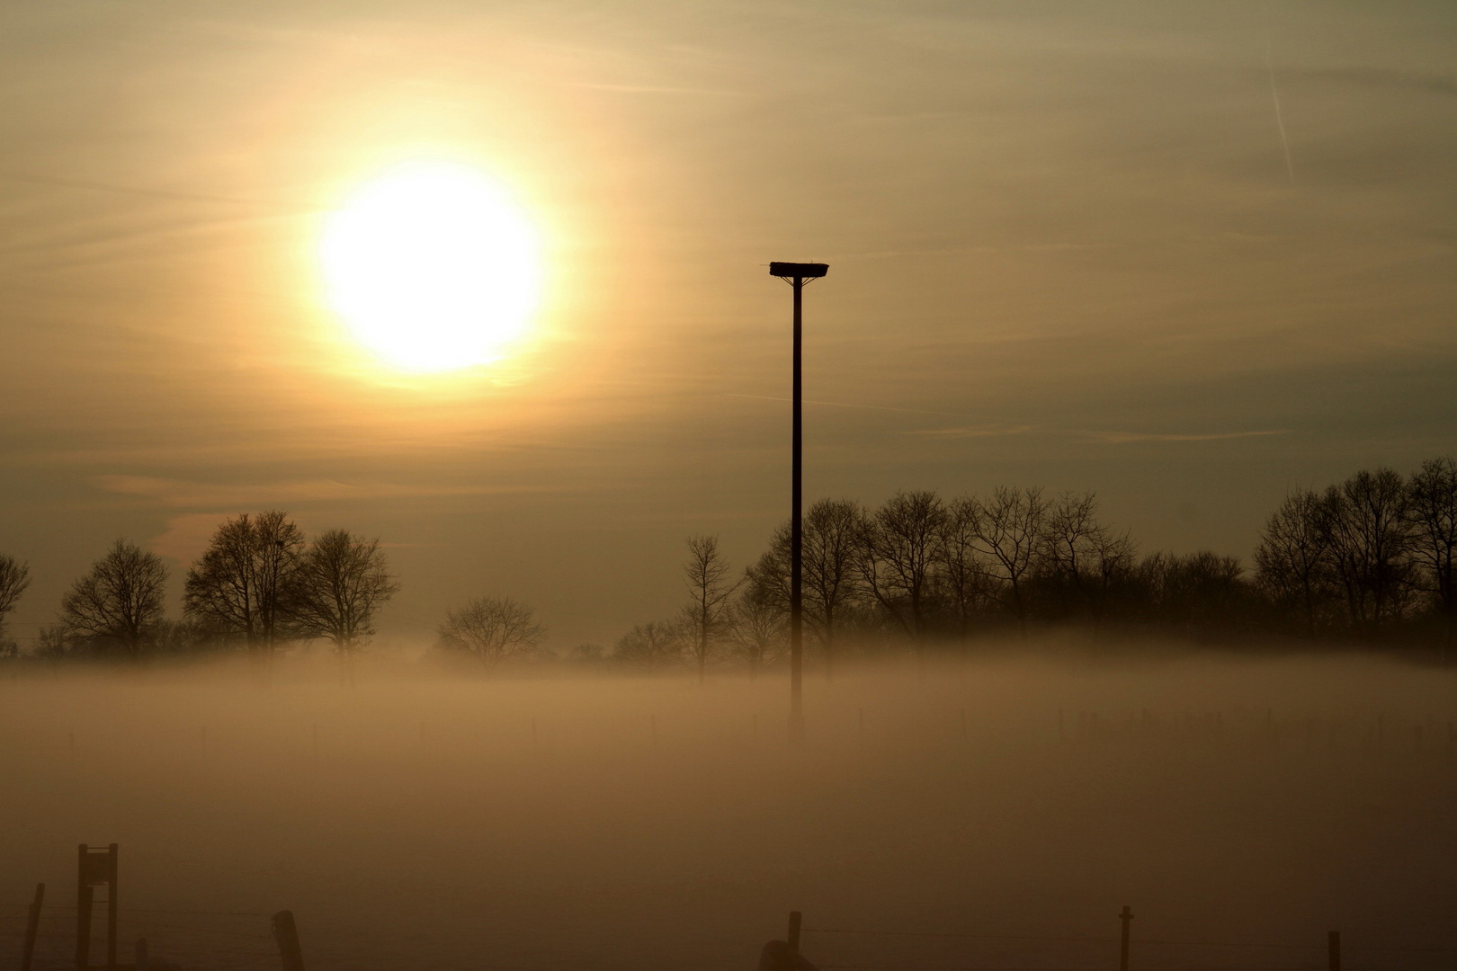
<path id="1" fill-rule="evenodd" d="M 1447 3 L 136 3 L 0 10 L 0 552 L 25 643 L 117 537 L 379 536 L 380 642 L 478 594 L 609 643 L 806 492 L 1091 489 L 1249 558 L 1295 486 L 1454 451 Z M 536 227 L 488 365 L 393 370 L 329 215 L 446 160 Z"/>

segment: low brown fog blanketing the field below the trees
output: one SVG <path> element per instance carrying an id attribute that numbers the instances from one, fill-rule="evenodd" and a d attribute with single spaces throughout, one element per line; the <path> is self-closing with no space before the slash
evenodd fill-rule
<path id="1" fill-rule="evenodd" d="M 1317 968 L 1327 929 L 1348 971 L 1450 967 L 1454 687 L 1370 659 L 879 668 L 810 678 L 796 750 L 782 675 L 0 678 L 0 942 L 45 881 L 63 967 L 76 844 L 117 841 L 122 954 L 186 968 L 275 968 L 278 908 L 310 971 L 749 971 L 791 908 L 985 935 L 807 933 L 822 967 L 1112 968 L 1125 903 L 1138 971 Z"/>

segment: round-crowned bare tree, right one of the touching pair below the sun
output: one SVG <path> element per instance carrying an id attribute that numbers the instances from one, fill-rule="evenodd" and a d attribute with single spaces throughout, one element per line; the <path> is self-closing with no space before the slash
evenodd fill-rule
<path id="1" fill-rule="evenodd" d="M 290 574 L 288 619 L 303 638 L 326 638 L 339 654 L 374 633 L 374 611 L 399 591 L 379 540 L 329 530 Z"/>

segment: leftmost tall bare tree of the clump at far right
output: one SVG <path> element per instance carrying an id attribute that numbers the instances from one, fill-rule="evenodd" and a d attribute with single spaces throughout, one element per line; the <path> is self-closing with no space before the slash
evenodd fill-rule
<path id="1" fill-rule="evenodd" d="M 1314 636 L 1321 607 L 1330 598 L 1330 505 L 1311 489 L 1285 496 L 1260 530 L 1254 550 L 1254 582 L 1276 607 L 1294 609 Z"/>

